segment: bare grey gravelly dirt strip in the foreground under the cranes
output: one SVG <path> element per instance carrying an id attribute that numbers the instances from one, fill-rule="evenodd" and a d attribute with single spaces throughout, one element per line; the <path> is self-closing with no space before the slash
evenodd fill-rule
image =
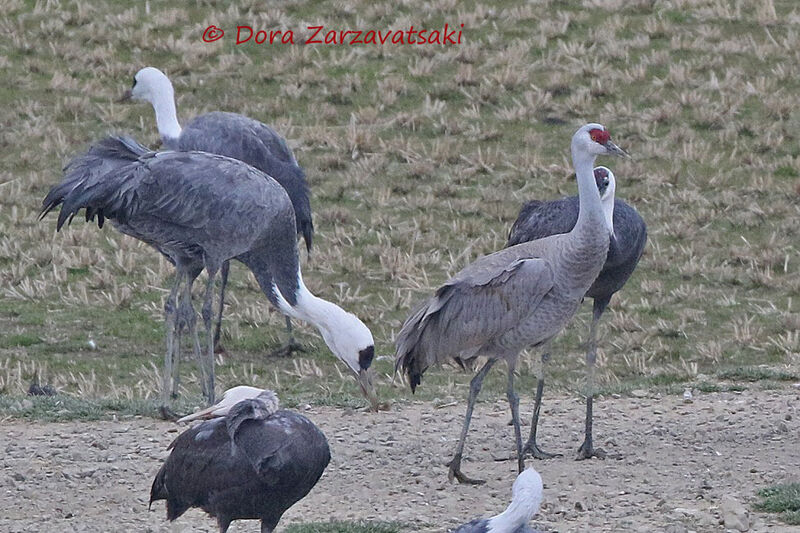
<path id="1" fill-rule="evenodd" d="M 577 462 L 583 407 L 546 397 L 541 445 L 564 457 L 533 464 L 545 483 L 533 524 L 543 531 L 724 531 L 724 495 L 751 507 L 762 487 L 800 480 L 800 389 L 603 398 L 597 443 L 618 459 Z M 522 413 L 530 417 L 531 398 Z M 504 401 L 480 404 L 463 469 L 484 486 L 447 482 L 464 400 L 435 408 L 396 404 L 378 414 L 313 407 L 305 414 L 328 436 L 333 459 L 311 494 L 281 524 L 398 520 L 443 531 L 508 503 L 515 462 Z M 164 503 L 148 512 L 150 483 L 174 424 L 131 418 L 104 422 L 1 423 L 0 531 L 216 531 L 192 510 L 176 525 Z M 800 531 L 750 512 L 750 531 Z M 235 522 L 230 531 L 257 531 Z"/>

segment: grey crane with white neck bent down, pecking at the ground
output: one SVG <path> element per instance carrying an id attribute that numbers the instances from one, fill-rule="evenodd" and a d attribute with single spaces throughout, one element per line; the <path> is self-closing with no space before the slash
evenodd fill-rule
<path id="1" fill-rule="evenodd" d="M 372 333 L 355 315 L 314 296 L 303 283 L 294 212 L 286 191 L 242 161 L 205 152 L 151 152 L 127 137 L 109 137 L 77 156 L 61 183 L 42 202 L 40 218 L 63 204 L 57 229 L 82 208 L 87 220 L 107 218 L 122 233 L 172 258 L 179 286 L 208 272 L 202 317 L 208 354 L 199 356 L 204 393 L 214 403 L 211 332 L 214 278 L 228 259 L 244 263 L 269 301 L 283 314 L 312 323 L 333 354 L 357 376 L 373 408 L 377 397 L 367 369 L 375 354 Z M 170 335 L 175 307 L 167 305 L 164 405 L 173 371 Z"/>

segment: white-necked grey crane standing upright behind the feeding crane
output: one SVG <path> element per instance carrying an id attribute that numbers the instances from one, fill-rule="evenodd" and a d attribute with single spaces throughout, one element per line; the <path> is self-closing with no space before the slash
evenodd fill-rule
<path id="1" fill-rule="evenodd" d="M 303 236 L 306 250 L 311 252 L 314 225 L 311 219 L 311 204 L 306 175 L 297 164 L 294 154 L 278 133 L 257 120 L 237 113 L 212 112 L 195 117 L 185 128 L 181 128 L 175 109 L 175 91 L 172 82 L 154 67 L 141 69 L 133 78 L 133 86 L 121 100 L 144 100 L 150 102 L 156 114 L 156 125 L 161 140 L 167 148 L 189 152 L 199 150 L 219 154 L 254 166 L 272 177 L 289 194 L 294 208 L 298 234 Z M 222 306 L 228 280 L 228 263 L 222 265 L 220 307 L 214 331 L 215 345 L 219 341 L 222 322 Z M 290 353 L 302 348 L 294 341 L 292 325 L 286 317 L 289 342 L 278 352 Z"/>

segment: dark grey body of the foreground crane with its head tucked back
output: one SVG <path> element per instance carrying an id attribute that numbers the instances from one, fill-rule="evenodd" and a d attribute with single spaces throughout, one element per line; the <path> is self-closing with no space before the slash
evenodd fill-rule
<path id="1" fill-rule="evenodd" d="M 278 410 L 272 391 L 188 429 L 169 448 L 150 504 L 166 500 L 170 521 L 199 507 L 216 517 L 220 533 L 241 519 L 259 519 L 261 533 L 272 532 L 331 459 L 325 435 L 306 417 Z"/>

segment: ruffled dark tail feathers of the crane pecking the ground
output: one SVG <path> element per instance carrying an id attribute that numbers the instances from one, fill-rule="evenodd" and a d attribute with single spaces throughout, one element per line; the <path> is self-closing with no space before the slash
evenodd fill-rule
<path id="1" fill-rule="evenodd" d="M 72 222 L 82 208 L 86 220 L 97 218 L 101 228 L 106 218 L 124 222 L 135 195 L 128 184 L 142 158 L 154 155 L 134 139 L 110 136 L 92 145 L 64 167 L 64 178 L 42 201 L 39 220 L 62 205 L 56 229 Z"/>

